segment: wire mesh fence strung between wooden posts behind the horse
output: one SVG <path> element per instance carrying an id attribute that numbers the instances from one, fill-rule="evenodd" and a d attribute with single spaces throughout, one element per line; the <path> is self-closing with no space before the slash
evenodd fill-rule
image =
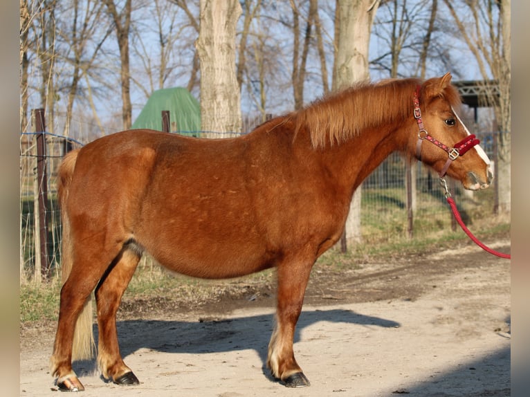
<path id="1" fill-rule="evenodd" d="M 248 127 L 251 129 L 250 127 Z M 44 128 L 43 128 L 44 130 Z M 495 164 L 495 133 L 476 133 L 481 146 Z M 233 135 L 233 134 L 232 134 Z M 201 136 L 205 136 L 202 135 Z M 44 154 L 38 152 L 37 141 L 44 137 Z M 20 135 L 20 279 L 21 282 L 37 280 L 55 273 L 60 266 L 61 220 L 57 204 L 57 169 L 67 151 L 82 147 L 95 137 L 87 133 L 76 138 L 44 131 Z M 39 160 L 46 164 L 44 214 L 39 213 L 43 181 L 39 181 Z M 414 236 L 435 236 L 453 228 L 453 217 L 446 205 L 444 192 L 437 174 L 415 163 L 412 185 L 413 219 L 408 211 L 405 160 L 392 154 L 363 182 L 361 199 L 361 235 L 363 243 L 378 243 Z M 495 181 L 495 178 L 494 178 Z M 459 184 L 450 183 L 450 189 L 459 203 L 464 221 L 491 216 L 495 205 L 493 188 L 481 192 L 468 192 Z M 479 194 L 479 196 L 476 196 Z M 409 199 L 410 200 L 410 199 Z M 44 216 L 45 225 L 42 226 Z M 39 225 L 41 225 L 39 227 Z M 412 230 L 410 229 L 412 227 Z M 42 243 L 42 234 L 46 234 Z M 42 255 L 43 251 L 46 255 Z M 46 263 L 43 263 L 45 261 Z"/>

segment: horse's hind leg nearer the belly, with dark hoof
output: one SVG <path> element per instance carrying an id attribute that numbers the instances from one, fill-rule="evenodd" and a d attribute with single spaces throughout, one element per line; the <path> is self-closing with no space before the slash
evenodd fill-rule
<path id="1" fill-rule="evenodd" d="M 99 329 L 98 364 L 102 376 L 118 385 L 139 383 L 138 378 L 122 360 L 116 331 L 116 312 L 141 257 L 140 250 L 136 248 L 134 244 L 123 248 L 95 290 Z"/>

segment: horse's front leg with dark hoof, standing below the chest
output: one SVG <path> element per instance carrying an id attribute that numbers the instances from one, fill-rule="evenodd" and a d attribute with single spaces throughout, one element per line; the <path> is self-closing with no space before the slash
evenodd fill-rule
<path id="1" fill-rule="evenodd" d="M 314 259 L 284 261 L 277 268 L 276 324 L 268 344 L 267 367 L 286 387 L 309 386 L 309 380 L 295 360 L 293 340 L 313 263 Z"/>

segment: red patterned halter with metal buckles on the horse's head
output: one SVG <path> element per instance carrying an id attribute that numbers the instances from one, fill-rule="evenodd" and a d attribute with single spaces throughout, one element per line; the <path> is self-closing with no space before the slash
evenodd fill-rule
<path id="1" fill-rule="evenodd" d="M 455 144 L 455 147 L 448 147 L 436 138 L 430 136 L 425 127 L 423 127 L 423 121 L 421 120 L 421 109 L 419 108 L 419 91 L 420 86 L 417 86 L 416 91 L 414 92 L 414 97 L 412 98 L 412 102 L 414 103 L 414 118 L 416 119 L 416 122 L 418 123 L 419 127 L 418 142 L 416 143 L 416 157 L 418 160 L 421 161 L 421 143 L 423 142 L 423 140 L 428 140 L 429 142 L 435 144 L 437 147 L 444 149 L 449 155 L 446 164 L 441 169 L 439 174 L 440 178 L 444 178 L 447 169 L 449 168 L 451 163 L 453 163 L 453 160 L 456 160 L 459 156 L 463 156 L 466 151 L 471 149 L 473 146 L 478 145 L 480 141 L 475 137 L 475 134 L 470 134 L 466 138 Z"/>

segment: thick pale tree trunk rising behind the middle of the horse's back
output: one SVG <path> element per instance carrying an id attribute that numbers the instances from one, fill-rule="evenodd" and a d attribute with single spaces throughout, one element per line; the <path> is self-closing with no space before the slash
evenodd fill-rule
<path id="1" fill-rule="evenodd" d="M 241 13 L 237 0 L 200 1 L 196 46 L 201 62 L 201 129 L 207 136 L 241 132 L 241 93 L 235 68 L 235 34 Z"/>

